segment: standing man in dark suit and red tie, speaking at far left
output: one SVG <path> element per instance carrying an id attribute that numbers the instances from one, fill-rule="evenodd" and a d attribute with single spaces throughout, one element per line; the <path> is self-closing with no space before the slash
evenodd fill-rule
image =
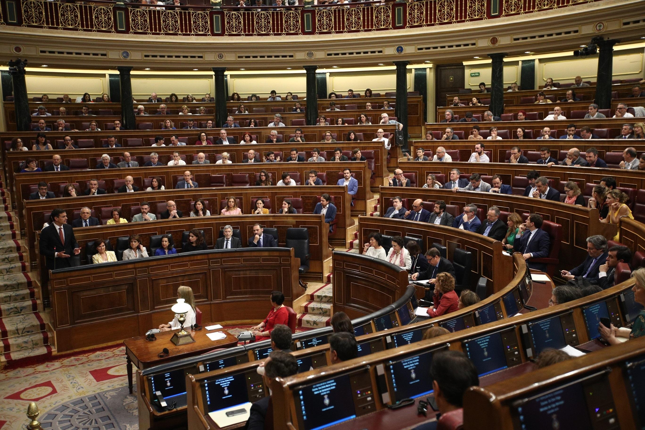
<path id="1" fill-rule="evenodd" d="M 74 237 L 74 228 L 67 224 L 67 213 L 56 208 L 52 211 L 52 223 L 41 231 L 40 253 L 45 256 L 47 269 L 62 269 L 76 266 L 73 255 L 79 255 L 81 248 Z"/>

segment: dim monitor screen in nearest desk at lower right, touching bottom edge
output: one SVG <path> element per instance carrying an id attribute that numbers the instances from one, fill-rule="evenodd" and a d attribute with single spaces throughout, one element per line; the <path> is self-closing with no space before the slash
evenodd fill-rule
<path id="1" fill-rule="evenodd" d="M 559 387 L 517 407 L 522 429 L 591 429 L 581 382 Z"/>

